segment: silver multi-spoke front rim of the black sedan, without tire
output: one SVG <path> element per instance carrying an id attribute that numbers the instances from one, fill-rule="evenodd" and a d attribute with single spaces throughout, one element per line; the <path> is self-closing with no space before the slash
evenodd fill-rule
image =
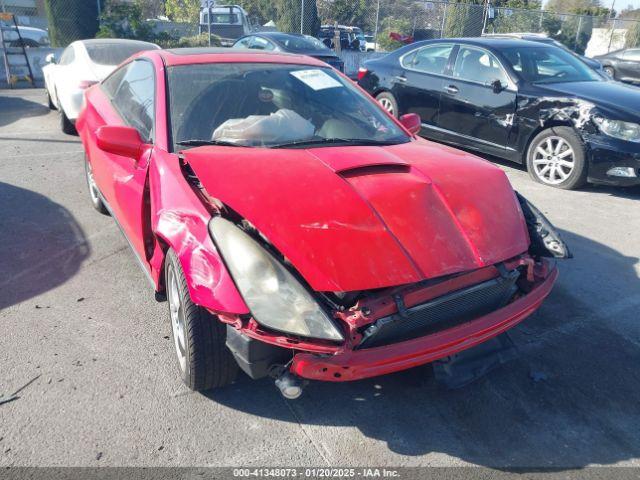
<path id="1" fill-rule="evenodd" d="M 535 146 L 533 169 L 536 176 L 549 185 L 566 181 L 575 168 L 573 147 L 562 137 L 546 137 Z"/>

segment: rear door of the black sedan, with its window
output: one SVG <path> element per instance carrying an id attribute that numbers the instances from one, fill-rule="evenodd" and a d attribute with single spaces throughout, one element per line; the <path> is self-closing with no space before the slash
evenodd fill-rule
<path id="1" fill-rule="evenodd" d="M 402 72 L 395 77 L 395 96 L 400 113 L 417 113 L 424 125 L 438 124 L 445 72 L 453 44 L 427 45 L 400 57 Z"/>

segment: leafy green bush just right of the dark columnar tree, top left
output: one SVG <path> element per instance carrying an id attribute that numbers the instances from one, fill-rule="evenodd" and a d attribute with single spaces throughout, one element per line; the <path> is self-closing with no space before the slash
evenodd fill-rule
<path id="1" fill-rule="evenodd" d="M 140 0 L 135 3 L 109 2 L 100 16 L 100 30 L 96 37 L 155 40 L 153 27 L 144 21 Z"/>

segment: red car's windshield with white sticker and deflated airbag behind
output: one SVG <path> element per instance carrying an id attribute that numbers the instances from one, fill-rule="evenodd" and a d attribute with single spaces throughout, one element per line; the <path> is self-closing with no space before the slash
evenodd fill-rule
<path id="1" fill-rule="evenodd" d="M 249 147 L 409 141 L 332 68 L 215 63 L 168 68 L 174 150 L 206 141 Z M 190 142 L 191 141 L 191 142 Z"/>

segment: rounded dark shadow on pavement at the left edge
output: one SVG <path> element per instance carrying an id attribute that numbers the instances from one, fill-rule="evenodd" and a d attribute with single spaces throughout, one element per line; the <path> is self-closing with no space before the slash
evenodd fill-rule
<path id="1" fill-rule="evenodd" d="M 90 249 L 63 206 L 0 182 L 0 310 L 64 283 Z"/>

